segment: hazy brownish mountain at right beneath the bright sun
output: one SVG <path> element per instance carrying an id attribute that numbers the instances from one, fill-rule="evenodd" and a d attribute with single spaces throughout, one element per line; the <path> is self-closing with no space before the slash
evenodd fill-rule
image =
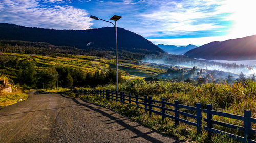
<path id="1" fill-rule="evenodd" d="M 208 60 L 253 60 L 256 59 L 256 35 L 210 42 L 186 52 L 190 58 Z"/>

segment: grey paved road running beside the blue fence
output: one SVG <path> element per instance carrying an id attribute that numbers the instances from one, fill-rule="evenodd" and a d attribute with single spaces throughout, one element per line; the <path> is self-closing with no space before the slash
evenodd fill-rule
<path id="1" fill-rule="evenodd" d="M 0 109 L 0 142 L 178 141 L 79 98 L 30 93 Z"/>

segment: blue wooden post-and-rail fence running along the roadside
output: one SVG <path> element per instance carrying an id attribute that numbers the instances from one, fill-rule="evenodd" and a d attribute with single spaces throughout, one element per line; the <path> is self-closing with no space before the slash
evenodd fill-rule
<path id="1" fill-rule="evenodd" d="M 80 94 L 94 94 L 96 96 L 101 96 L 103 98 L 106 98 L 107 100 L 118 101 L 123 104 L 130 104 L 132 106 L 136 106 L 137 108 L 144 108 L 145 111 L 149 113 L 149 115 L 152 115 L 152 112 L 153 112 L 158 115 L 161 115 L 163 120 L 166 117 L 174 119 L 175 125 L 179 125 L 179 122 L 183 122 L 183 123 L 195 126 L 197 128 L 198 134 L 201 134 L 202 130 L 204 129 L 207 131 L 207 135 L 208 135 L 209 139 L 211 139 L 211 136 L 213 133 L 217 133 L 217 134 L 228 136 L 233 139 L 237 139 L 238 141 L 248 142 L 248 143 L 251 143 L 251 142 L 256 143 L 255 140 L 252 140 L 252 136 L 256 134 L 256 130 L 252 129 L 252 123 L 256 123 L 256 118 L 251 117 L 251 110 L 244 110 L 244 116 L 240 116 L 240 115 L 234 115 L 231 113 L 214 111 L 214 110 L 212 110 L 211 104 L 207 105 L 207 109 L 202 110 L 201 103 L 197 103 L 196 107 L 192 107 L 192 106 L 186 106 L 186 105 L 179 104 L 178 100 L 175 100 L 174 103 L 165 102 L 165 98 L 162 98 L 161 101 L 153 100 L 152 96 L 147 96 L 147 95 L 145 95 L 144 98 L 141 98 L 138 95 L 131 96 L 130 93 L 126 95 L 124 92 L 117 93 L 117 92 L 109 91 L 109 90 L 72 89 L 71 91 L 75 92 L 75 93 L 80 93 Z M 141 105 L 143 105 L 143 106 L 141 106 Z M 173 107 L 173 109 L 168 108 L 166 106 L 168 106 L 168 107 L 171 106 L 171 107 Z M 153 108 L 157 108 L 161 111 L 154 110 Z M 182 112 L 182 111 L 180 111 L 180 108 L 190 110 L 192 112 L 195 112 L 195 114 Z M 169 115 L 168 113 L 166 113 L 166 111 L 173 112 L 174 116 Z M 202 129 L 202 111 L 207 114 L 207 118 L 203 119 L 203 121 L 205 121 L 207 123 L 207 126 L 204 126 L 203 129 Z M 196 122 L 191 122 L 186 119 L 182 119 L 182 118 L 180 118 L 180 115 L 183 115 L 185 117 L 194 118 L 194 119 L 196 119 Z M 238 126 L 238 125 L 233 125 L 233 124 L 228 124 L 228 123 L 212 120 L 213 115 L 241 120 L 244 122 L 244 126 Z M 243 131 L 244 136 L 242 137 L 242 136 L 234 135 L 234 134 L 224 132 L 221 130 L 217 130 L 214 128 L 214 126 L 213 126 L 214 124 L 228 127 L 228 128 L 237 129 L 239 131 Z"/>

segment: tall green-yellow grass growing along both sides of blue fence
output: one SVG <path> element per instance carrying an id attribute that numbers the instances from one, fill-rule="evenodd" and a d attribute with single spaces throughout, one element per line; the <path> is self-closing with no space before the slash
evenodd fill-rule
<path id="1" fill-rule="evenodd" d="M 167 102 L 174 102 L 174 100 L 179 100 L 180 104 L 195 106 L 196 103 L 202 103 L 203 108 L 206 108 L 207 104 L 212 104 L 214 110 L 234 113 L 243 116 L 244 109 L 252 110 L 252 117 L 256 117 L 256 83 L 247 82 L 247 84 L 205 84 L 200 87 L 195 87 L 189 83 L 176 82 L 176 83 L 165 83 L 165 82 L 153 82 L 146 83 L 143 80 L 133 80 L 127 81 L 124 84 L 119 85 L 119 91 L 124 91 L 125 93 L 139 94 L 141 97 L 143 95 L 153 96 L 153 99 L 160 100 L 162 97 L 166 98 Z M 87 88 L 88 89 L 88 88 Z M 115 91 L 115 85 L 100 86 L 96 89 L 109 89 Z M 207 142 L 207 133 L 203 131 L 201 136 L 196 134 L 196 127 L 190 126 L 184 123 L 180 123 L 179 126 L 174 125 L 174 121 L 171 119 L 165 119 L 162 121 L 161 116 L 153 115 L 150 117 L 148 113 L 145 113 L 142 109 L 136 109 L 129 105 L 122 105 L 117 102 L 108 102 L 106 99 L 100 97 L 95 97 L 92 95 L 75 95 L 69 93 L 72 96 L 78 96 L 80 98 L 93 101 L 98 104 L 102 104 L 109 108 L 115 109 L 126 116 L 131 117 L 133 120 L 142 123 L 143 125 L 150 127 L 152 129 L 161 131 L 170 136 L 175 136 L 181 140 L 193 140 L 198 142 Z M 172 107 L 169 107 L 172 108 Z M 154 108 L 154 110 L 159 110 Z M 160 111 L 160 110 L 159 110 Z M 181 109 L 181 111 L 188 113 L 195 113 L 193 111 Z M 167 112 L 170 115 L 174 115 L 173 112 Z M 194 119 L 180 116 L 183 119 L 195 122 Z M 203 118 L 206 118 L 206 114 L 203 113 Z M 233 120 L 225 117 L 214 116 L 214 120 L 231 123 L 234 125 L 243 126 L 242 121 Z M 206 123 L 203 122 L 205 126 Z M 188 132 L 182 131 L 184 128 L 190 128 Z M 214 125 L 214 128 L 230 132 L 243 136 L 242 132 L 236 129 L 229 129 L 222 126 Z M 256 124 L 252 124 L 252 128 L 256 129 Z M 253 136 L 256 139 L 256 136 Z M 228 139 L 224 135 L 214 135 L 212 142 L 234 142 Z"/>

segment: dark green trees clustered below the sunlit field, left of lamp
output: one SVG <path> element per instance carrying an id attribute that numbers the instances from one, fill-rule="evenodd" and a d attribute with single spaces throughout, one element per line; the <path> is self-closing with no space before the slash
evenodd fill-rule
<path id="1" fill-rule="evenodd" d="M 13 82 L 24 89 L 54 88 L 57 78 L 58 85 L 65 88 L 95 87 L 116 81 L 116 71 L 111 68 L 102 71 L 96 69 L 94 73 L 67 66 L 50 65 L 42 69 L 34 60 L 12 59 L 1 53 L 0 55 L 0 73 L 8 72 Z M 124 82 L 121 74 L 118 75 L 118 80 L 120 83 Z"/>

